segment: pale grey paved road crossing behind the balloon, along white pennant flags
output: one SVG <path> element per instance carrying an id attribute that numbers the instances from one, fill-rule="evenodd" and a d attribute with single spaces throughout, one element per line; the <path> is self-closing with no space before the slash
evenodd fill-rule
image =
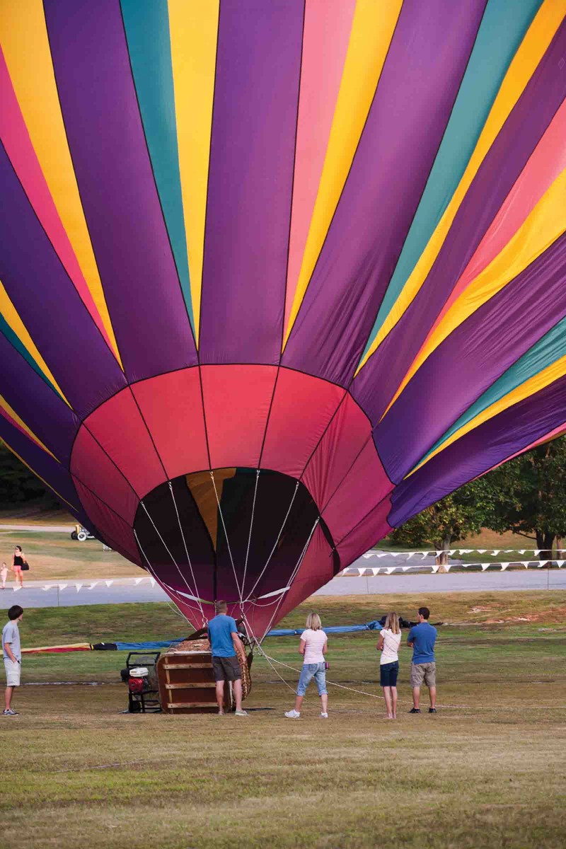
<path id="1" fill-rule="evenodd" d="M 363 565 L 363 561 L 361 561 Z M 67 584 L 63 588 L 63 585 Z M 27 582 L 23 590 L 14 593 L 14 585 L 0 591 L 0 609 L 10 604 L 22 607 L 62 607 L 81 604 L 123 604 L 145 601 L 165 601 L 167 598 L 160 587 L 143 581 L 135 586 L 131 582 L 120 583 L 117 579 L 111 587 L 101 581 L 96 587 L 88 588 L 88 582 L 76 591 L 76 582 L 59 582 L 56 586 L 43 589 L 46 582 Z M 315 595 L 375 595 L 390 593 L 485 593 L 500 590 L 566 590 L 566 569 L 552 571 L 530 569 L 529 571 L 467 572 L 449 575 L 406 574 L 378 575 L 368 577 L 333 578 L 326 587 Z"/>

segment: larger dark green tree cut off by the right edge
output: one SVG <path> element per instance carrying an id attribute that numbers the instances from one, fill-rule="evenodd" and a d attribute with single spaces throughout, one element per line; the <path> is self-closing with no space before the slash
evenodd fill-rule
<path id="1" fill-rule="evenodd" d="M 486 526 L 535 539 L 541 559 L 552 559 L 554 540 L 566 535 L 566 437 L 510 460 L 483 481 L 491 492 Z"/>

